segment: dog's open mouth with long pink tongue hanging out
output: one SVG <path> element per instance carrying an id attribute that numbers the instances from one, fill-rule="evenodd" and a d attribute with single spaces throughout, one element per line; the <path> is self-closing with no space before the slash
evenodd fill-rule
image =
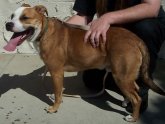
<path id="1" fill-rule="evenodd" d="M 29 28 L 23 32 L 14 32 L 7 45 L 4 46 L 4 49 L 9 52 L 14 51 L 17 46 L 22 44 L 26 39 L 31 37 L 33 34 L 34 28 Z"/>

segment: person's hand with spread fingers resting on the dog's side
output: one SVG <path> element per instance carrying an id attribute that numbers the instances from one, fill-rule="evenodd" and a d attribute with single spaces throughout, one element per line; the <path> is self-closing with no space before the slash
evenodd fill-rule
<path id="1" fill-rule="evenodd" d="M 100 18 L 92 21 L 89 23 L 90 29 L 86 32 L 84 37 L 84 42 L 88 42 L 88 39 L 92 46 L 98 47 L 99 46 L 99 39 L 100 36 L 102 37 L 102 41 L 106 42 L 106 33 L 110 27 L 108 20 L 106 17 L 101 16 Z"/>

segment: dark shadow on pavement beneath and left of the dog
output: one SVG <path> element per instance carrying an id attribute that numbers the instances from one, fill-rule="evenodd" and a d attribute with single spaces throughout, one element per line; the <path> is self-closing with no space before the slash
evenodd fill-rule
<path id="1" fill-rule="evenodd" d="M 47 104 L 52 104 L 52 101 L 46 96 L 46 94 L 53 93 L 52 79 L 49 76 L 47 76 L 44 82 L 42 82 L 41 74 L 43 72 L 44 72 L 44 67 L 41 67 L 27 75 L 14 75 L 14 76 L 9 76 L 9 74 L 2 75 L 2 77 L 0 78 L 0 96 L 2 94 L 5 94 L 10 89 L 20 88 L 25 92 L 27 92 L 28 94 L 39 98 L 41 101 Z M 85 94 L 87 89 L 84 86 L 81 86 L 81 84 L 79 83 L 80 78 L 81 78 L 81 73 L 79 73 L 78 76 L 75 77 L 65 77 L 64 79 L 65 82 L 64 87 L 66 88 L 65 93 L 79 94 L 79 95 Z M 107 103 L 107 101 L 109 101 L 110 103 L 112 102 L 114 104 L 121 106 L 121 101 L 115 99 L 107 92 L 105 92 L 104 95 L 98 98 L 89 98 L 83 100 L 99 107 L 100 109 L 113 111 L 122 115 L 126 115 L 126 112 L 114 109 Z"/>

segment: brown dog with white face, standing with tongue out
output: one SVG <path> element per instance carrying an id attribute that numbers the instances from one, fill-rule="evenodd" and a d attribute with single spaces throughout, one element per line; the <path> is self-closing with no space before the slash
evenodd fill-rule
<path id="1" fill-rule="evenodd" d="M 149 77 L 149 53 L 143 41 L 132 32 L 111 27 L 104 44 L 93 48 L 84 43 L 86 30 L 82 26 L 68 24 L 57 18 L 46 17 L 46 7 L 31 7 L 24 4 L 6 23 L 6 30 L 14 32 L 7 49 L 21 44 L 25 39 L 37 43 L 40 56 L 53 78 L 55 102 L 47 111 L 56 112 L 62 101 L 64 71 L 82 71 L 87 69 L 111 70 L 117 86 L 124 97 L 133 106 L 132 115 L 125 117 L 128 122 L 139 118 L 141 98 L 138 95 L 136 79 L 141 76 L 144 82 L 155 92 L 165 95 Z"/>

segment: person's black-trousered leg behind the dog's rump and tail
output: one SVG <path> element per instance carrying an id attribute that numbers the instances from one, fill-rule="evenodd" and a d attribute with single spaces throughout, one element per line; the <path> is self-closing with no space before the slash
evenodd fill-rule
<path id="1" fill-rule="evenodd" d="M 161 44 L 164 41 L 165 29 L 161 26 L 161 23 L 157 19 L 146 19 L 129 25 L 129 30 L 139 36 L 145 42 L 149 50 L 149 75 L 152 78 L 158 57 L 157 53 L 159 52 Z M 143 112 L 148 107 L 148 86 L 146 86 L 140 78 L 138 78 L 137 83 L 140 86 L 139 95 L 142 98 L 140 111 Z M 126 110 L 129 112 L 132 111 L 130 104 Z"/>

